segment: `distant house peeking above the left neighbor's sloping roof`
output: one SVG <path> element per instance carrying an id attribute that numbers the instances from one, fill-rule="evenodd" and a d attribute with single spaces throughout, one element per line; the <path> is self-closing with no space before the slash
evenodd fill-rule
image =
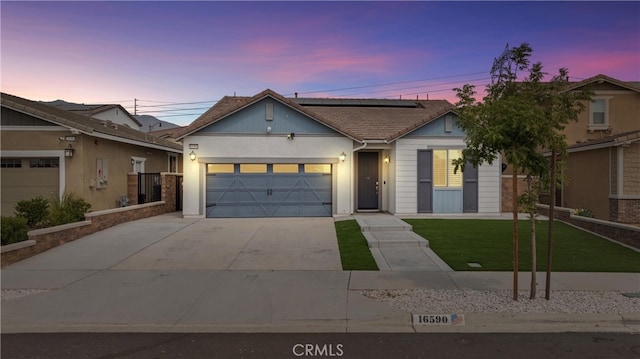
<path id="1" fill-rule="evenodd" d="M 52 102 L 42 102 L 45 105 L 51 105 L 61 108 L 66 111 L 84 115 L 86 117 L 111 121 L 115 124 L 124 125 L 134 130 L 141 130 L 142 123 L 138 121 L 134 116 L 131 116 L 129 111 L 118 104 L 107 105 L 85 105 L 66 102 L 62 100 Z"/>

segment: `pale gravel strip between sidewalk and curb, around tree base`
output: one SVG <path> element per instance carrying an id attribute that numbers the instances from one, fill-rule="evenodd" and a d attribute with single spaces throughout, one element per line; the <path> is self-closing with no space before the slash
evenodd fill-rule
<path id="1" fill-rule="evenodd" d="M 511 290 L 365 290 L 366 297 L 393 307 L 420 314 L 446 313 L 640 313 L 640 298 L 621 292 L 554 291 L 544 299 L 529 299 L 529 291 L 520 291 L 518 301 Z"/>

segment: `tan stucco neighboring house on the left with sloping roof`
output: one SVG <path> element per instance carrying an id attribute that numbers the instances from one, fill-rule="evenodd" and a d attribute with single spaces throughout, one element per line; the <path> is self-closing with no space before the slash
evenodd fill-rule
<path id="1" fill-rule="evenodd" d="M 176 142 L 110 120 L 1 96 L 2 215 L 12 215 L 20 200 L 65 192 L 84 198 L 92 210 L 135 203 L 137 199 L 126 198 L 129 173 L 182 169 L 182 146 Z"/>

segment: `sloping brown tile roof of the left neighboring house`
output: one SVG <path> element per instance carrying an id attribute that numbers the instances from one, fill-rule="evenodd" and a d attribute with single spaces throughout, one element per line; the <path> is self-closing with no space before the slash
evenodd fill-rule
<path id="1" fill-rule="evenodd" d="M 167 141 L 127 126 L 90 118 L 78 113 L 46 105 L 42 102 L 1 93 L 2 106 L 12 110 L 55 123 L 59 126 L 75 129 L 81 133 L 112 139 L 120 142 L 133 142 L 140 146 L 159 148 L 172 152 L 182 152 L 182 145 Z"/>

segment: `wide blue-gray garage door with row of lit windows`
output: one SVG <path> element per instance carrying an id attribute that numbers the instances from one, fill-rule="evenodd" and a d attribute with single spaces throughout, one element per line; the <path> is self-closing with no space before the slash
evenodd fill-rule
<path id="1" fill-rule="evenodd" d="M 208 164 L 207 217 L 329 217 L 331 164 Z"/>

